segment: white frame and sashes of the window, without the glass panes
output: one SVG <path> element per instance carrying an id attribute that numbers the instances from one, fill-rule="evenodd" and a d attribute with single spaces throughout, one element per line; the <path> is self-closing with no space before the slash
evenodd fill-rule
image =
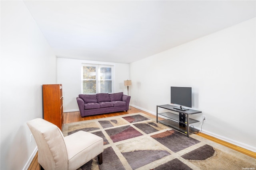
<path id="1" fill-rule="evenodd" d="M 84 66 L 92 66 L 92 67 L 96 67 L 96 93 L 101 93 L 100 92 L 100 68 L 102 67 L 109 67 L 111 68 L 111 79 L 106 79 L 106 80 L 111 80 L 112 81 L 112 92 L 108 92 L 108 93 L 114 93 L 115 89 L 114 89 L 114 82 L 115 82 L 115 78 L 114 78 L 114 65 L 107 65 L 107 64 L 90 64 L 90 63 L 82 63 L 81 66 L 81 94 L 83 93 L 83 80 L 89 80 L 89 79 L 83 79 L 84 76 L 84 71 L 83 71 L 83 67 Z M 104 80 L 104 79 L 102 79 Z M 87 93 L 87 94 L 96 94 L 96 93 Z"/>

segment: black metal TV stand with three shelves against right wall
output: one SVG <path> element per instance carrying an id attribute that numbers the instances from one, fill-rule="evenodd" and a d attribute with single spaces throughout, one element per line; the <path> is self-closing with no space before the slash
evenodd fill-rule
<path id="1" fill-rule="evenodd" d="M 172 110 L 174 112 L 177 112 L 178 114 L 171 113 L 171 112 L 164 112 L 164 113 L 158 113 L 158 107 L 164 108 L 167 110 Z M 166 126 L 170 126 L 184 134 L 187 135 L 189 138 L 190 134 L 193 134 L 195 132 L 198 132 L 197 129 L 189 127 L 189 124 L 199 122 L 198 120 L 194 120 L 189 118 L 190 114 L 197 114 L 202 113 L 198 110 L 179 110 L 176 109 L 175 106 L 172 106 L 170 104 L 164 104 L 164 105 L 158 105 L 156 106 L 156 122 L 158 123 L 158 114 L 168 118 L 165 120 L 160 120 L 159 122 L 162 124 L 165 124 Z"/>

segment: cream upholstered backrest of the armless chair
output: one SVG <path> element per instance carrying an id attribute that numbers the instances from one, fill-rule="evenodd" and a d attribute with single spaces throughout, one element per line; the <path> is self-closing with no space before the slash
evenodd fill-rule
<path id="1" fill-rule="evenodd" d="M 38 147 L 38 163 L 45 170 L 67 170 L 68 155 L 64 136 L 54 124 L 36 118 L 27 122 Z"/>

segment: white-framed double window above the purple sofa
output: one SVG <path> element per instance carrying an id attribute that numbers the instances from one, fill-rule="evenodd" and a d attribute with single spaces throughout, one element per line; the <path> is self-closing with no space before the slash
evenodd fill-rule
<path id="1" fill-rule="evenodd" d="M 82 93 L 114 92 L 114 66 L 82 64 Z"/>

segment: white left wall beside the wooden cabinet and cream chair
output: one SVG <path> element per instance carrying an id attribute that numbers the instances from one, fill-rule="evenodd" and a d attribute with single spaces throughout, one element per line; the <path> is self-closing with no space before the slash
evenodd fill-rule
<path id="1" fill-rule="evenodd" d="M 1 1 L 1 170 L 22 170 L 36 152 L 26 122 L 42 118 L 42 84 L 56 83 L 56 56 L 22 1 Z"/>

